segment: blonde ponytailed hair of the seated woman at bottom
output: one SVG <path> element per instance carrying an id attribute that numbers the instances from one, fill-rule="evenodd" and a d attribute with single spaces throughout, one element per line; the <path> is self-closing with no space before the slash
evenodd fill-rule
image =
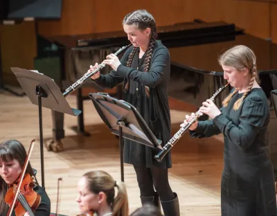
<path id="1" fill-rule="evenodd" d="M 127 216 L 129 213 L 128 198 L 125 184 L 114 179 L 104 171 L 92 171 L 83 175 L 87 179 L 89 190 L 98 194 L 105 192 L 107 195 L 107 204 L 111 205 L 113 216 Z M 114 188 L 118 188 L 117 196 Z"/>

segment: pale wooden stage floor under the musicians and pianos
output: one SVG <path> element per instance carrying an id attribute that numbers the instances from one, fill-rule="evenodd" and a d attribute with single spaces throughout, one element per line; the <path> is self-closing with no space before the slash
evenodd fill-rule
<path id="1" fill-rule="evenodd" d="M 76 107 L 75 96 L 69 96 L 66 100 L 71 107 Z M 192 111 L 192 107 L 184 105 L 183 109 L 175 100 L 170 100 L 170 103 L 174 134 L 188 114 L 186 111 Z M 0 94 L 0 104 L 1 141 L 15 138 L 28 148 L 30 141 L 36 138 L 30 161 L 38 170 L 37 178 L 41 182 L 37 105 L 32 105 L 26 96 L 20 98 L 10 93 Z M 52 136 L 51 111 L 43 108 L 42 112 L 44 141 L 47 141 Z M 51 199 L 52 212 L 55 212 L 57 205 L 58 178 L 62 178 L 58 213 L 64 215 L 80 213 L 75 202 L 76 184 L 85 172 L 105 170 L 114 179 L 120 180 L 118 139 L 102 123 L 89 100 L 84 101 L 84 123 L 91 136 L 76 134 L 72 127 L 76 126 L 77 118 L 65 115 L 64 152 L 47 152 L 44 147 L 45 186 Z M 185 134 L 172 149 L 173 167 L 169 170 L 169 179 L 172 190 L 179 195 L 181 215 L 220 215 L 222 152 L 222 136 L 192 139 Z M 141 206 L 139 188 L 132 165 L 125 164 L 124 168 L 129 209 L 132 212 Z"/>

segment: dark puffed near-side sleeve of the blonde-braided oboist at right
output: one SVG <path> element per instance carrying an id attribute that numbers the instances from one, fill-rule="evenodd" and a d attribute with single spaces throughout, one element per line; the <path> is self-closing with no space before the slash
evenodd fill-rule
<path id="1" fill-rule="evenodd" d="M 252 96 L 244 99 L 238 125 L 224 115 L 216 116 L 213 123 L 232 143 L 245 150 L 251 146 L 260 129 L 265 127 L 268 115 L 262 98 Z"/>

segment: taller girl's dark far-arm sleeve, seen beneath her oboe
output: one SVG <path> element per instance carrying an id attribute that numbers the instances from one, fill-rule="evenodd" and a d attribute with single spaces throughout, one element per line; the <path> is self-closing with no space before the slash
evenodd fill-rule
<path id="1" fill-rule="evenodd" d="M 129 50 L 127 50 L 123 57 L 121 57 L 121 64 L 120 65 L 125 65 L 127 62 L 127 57 L 129 55 Z M 100 77 L 97 80 L 94 80 L 98 86 L 103 87 L 103 88 L 114 88 L 117 84 L 120 82 L 123 82 L 124 78 L 121 77 L 120 75 L 116 74 L 116 71 L 111 71 L 108 74 L 100 74 Z"/>

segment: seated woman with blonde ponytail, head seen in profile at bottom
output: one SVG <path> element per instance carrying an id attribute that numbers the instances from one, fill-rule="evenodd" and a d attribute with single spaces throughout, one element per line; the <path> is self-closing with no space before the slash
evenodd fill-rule
<path id="1" fill-rule="evenodd" d="M 117 188 L 117 195 L 116 190 Z M 127 216 L 128 199 L 125 184 L 104 171 L 87 172 L 78 182 L 80 212 L 83 215 Z"/>

